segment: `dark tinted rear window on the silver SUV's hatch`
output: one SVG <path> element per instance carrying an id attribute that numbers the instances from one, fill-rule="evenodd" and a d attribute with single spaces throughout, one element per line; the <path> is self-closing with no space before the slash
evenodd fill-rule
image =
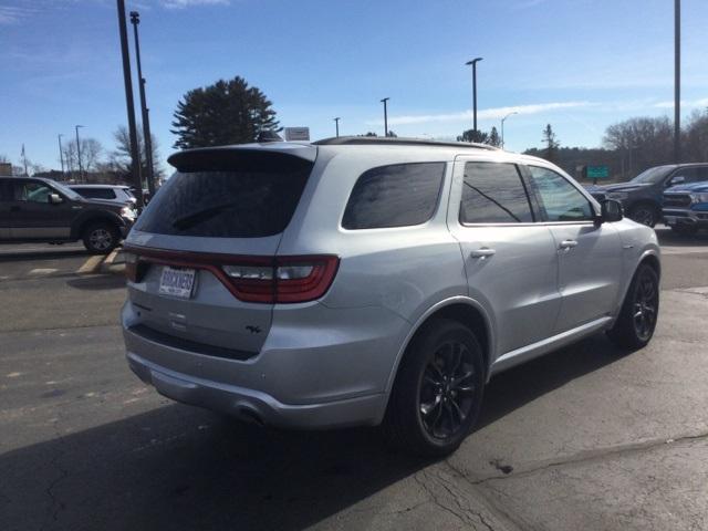
<path id="1" fill-rule="evenodd" d="M 291 156 L 223 152 L 179 154 L 175 164 L 177 173 L 140 215 L 137 230 L 212 238 L 278 235 L 313 166 Z"/>

